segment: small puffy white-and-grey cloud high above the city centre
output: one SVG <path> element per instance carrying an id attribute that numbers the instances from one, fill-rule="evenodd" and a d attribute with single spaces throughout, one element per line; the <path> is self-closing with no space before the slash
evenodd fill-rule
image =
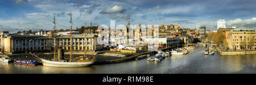
<path id="1" fill-rule="evenodd" d="M 116 14 L 116 13 L 123 13 L 125 12 L 125 8 L 123 6 L 114 6 L 110 8 L 109 10 L 101 11 L 100 14 Z"/>

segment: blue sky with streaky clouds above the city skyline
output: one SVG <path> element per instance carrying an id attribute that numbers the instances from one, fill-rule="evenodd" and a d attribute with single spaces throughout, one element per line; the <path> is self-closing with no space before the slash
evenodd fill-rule
<path id="1" fill-rule="evenodd" d="M 181 28 L 217 30 L 217 21 L 225 20 L 226 28 L 256 28 L 255 0 L 1 0 L 0 32 L 37 31 L 80 28 L 92 22 L 105 24 L 110 20 L 131 25 L 175 25 Z"/>

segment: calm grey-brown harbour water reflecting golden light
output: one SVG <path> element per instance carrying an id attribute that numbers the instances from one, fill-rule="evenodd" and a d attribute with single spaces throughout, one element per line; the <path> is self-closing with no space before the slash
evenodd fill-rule
<path id="1" fill-rule="evenodd" d="M 54 68 L 42 65 L 27 66 L 0 62 L 0 73 L 10 74 L 94 74 L 94 73 L 256 73 L 256 55 L 220 56 L 204 55 L 203 47 L 184 56 L 166 57 L 160 62 L 147 59 L 119 62 L 114 64 L 93 65 L 80 68 Z"/>

